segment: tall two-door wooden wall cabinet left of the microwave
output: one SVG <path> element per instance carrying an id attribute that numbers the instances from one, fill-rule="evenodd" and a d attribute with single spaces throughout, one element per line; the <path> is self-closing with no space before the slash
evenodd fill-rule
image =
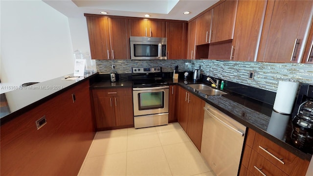
<path id="1" fill-rule="evenodd" d="M 91 59 L 130 59 L 129 20 L 94 16 L 86 19 Z"/>

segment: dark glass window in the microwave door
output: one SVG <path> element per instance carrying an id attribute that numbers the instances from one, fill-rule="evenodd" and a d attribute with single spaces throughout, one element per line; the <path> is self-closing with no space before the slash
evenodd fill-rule
<path id="1" fill-rule="evenodd" d="M 158 45 L 157 44 L 134 44 L 135 57 L 157 57 Z"/>

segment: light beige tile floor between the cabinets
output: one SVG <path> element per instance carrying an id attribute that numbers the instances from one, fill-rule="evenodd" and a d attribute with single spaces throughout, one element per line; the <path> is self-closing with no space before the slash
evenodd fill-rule
<path id="1" fill-rule="evenodd" d="M 215 176 L 179 123 L 97 132 L 78 176 Z"/>

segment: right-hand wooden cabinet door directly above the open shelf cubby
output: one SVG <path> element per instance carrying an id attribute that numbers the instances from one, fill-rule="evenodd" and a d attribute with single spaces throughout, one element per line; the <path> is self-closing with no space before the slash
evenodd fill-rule
<path id="1" fill-rule="evenodd" d="M 233 39 L 238 0 L 226 0 L 213 8 L 211 43 Z"/>

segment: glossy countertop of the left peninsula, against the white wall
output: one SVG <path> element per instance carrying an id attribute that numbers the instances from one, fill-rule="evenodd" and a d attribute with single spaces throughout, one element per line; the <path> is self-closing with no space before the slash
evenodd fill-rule
<path id="1" fill-rule="evenodd" d="M 18 87 L 12 91 L 1 93 L 1 102 L 7 105 L 1 107 L 1 125 L 74 87 L 76 84 L 93 78 L 97 74 L 87 74 L 75 80 L 65 80 L 64 76 L 62 76 L 28 87 Z M 69 76 L 73 77 L 73 74 L 69 74 Z"/>

